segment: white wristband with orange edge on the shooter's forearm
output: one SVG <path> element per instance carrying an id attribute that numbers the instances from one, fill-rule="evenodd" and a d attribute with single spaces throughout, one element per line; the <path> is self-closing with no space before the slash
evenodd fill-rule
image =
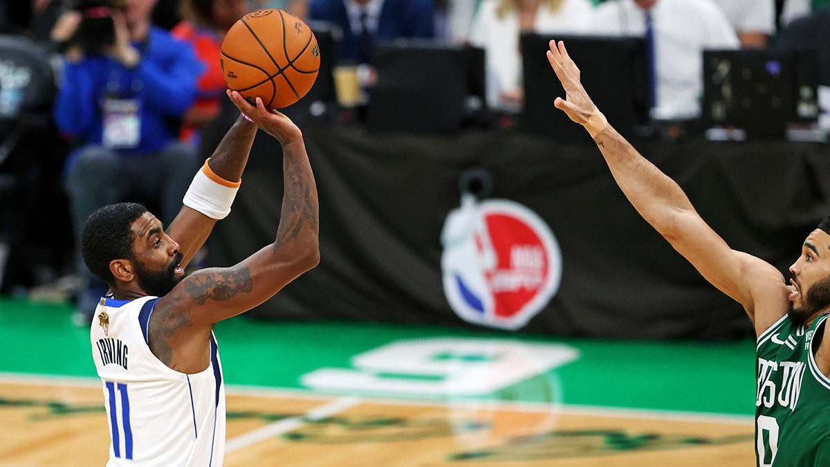
<path id="1" fill-rule="evenodd" d="M 193 177 L 182 202 L 211 219 L 225 219 L 231 213 L 231 204 L 237 197 L 240 184 L 241 181 L 231 182 L 213 173 L 206 160 Z"/>

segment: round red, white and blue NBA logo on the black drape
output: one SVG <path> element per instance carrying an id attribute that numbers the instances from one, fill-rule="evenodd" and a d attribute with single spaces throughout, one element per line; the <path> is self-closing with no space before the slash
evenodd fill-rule
<path id="1" fill-rule="evenodd" d="M 467 322 L 519 329 L 559 289 L 559 243 L 522 204 L 464 193 L 447 214 L 441 243 L 444 293 Z"/>

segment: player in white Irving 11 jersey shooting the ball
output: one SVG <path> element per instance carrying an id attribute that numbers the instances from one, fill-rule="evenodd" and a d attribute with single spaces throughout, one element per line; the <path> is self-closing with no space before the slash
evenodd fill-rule
<path id="1" fill-rule="evenodd" d="M 213 324 L 265 302 L 319 262 L 317 189 L 300 129 L 236 92 L 242 118 L 193 178 L 165 232 L 139 204 L 90 215 L 86 266 L 110 285 L 90 337 L 117 465 L 222 465 L 225 390 Z M 279 140 L 285 195 L 276 240 L 232 268 L 183 268 L 231 210 L 257 127 Z M 116 183 L 101 180 L 99 183 Z"/>

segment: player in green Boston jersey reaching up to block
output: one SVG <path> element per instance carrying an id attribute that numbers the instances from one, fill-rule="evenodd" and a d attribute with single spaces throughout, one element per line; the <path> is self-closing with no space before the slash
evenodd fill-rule
<path id="1" fill-rule="evenodd" d="M 758 337 L 757 465 L 830 465 L 830 216 L 804 241 L 788 286 L 771 264 L 731 249 L 680 186 L 608 125 L 563 42 L 551 41 L 547 55 L 565 90 L 554 106 L 585 126 L 643 219 L 749 315 Z"/>

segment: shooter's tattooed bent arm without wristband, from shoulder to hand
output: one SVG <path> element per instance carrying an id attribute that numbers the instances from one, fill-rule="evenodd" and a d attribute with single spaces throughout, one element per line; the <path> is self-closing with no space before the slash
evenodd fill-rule
<path id="1" fill-rule="evenodd" d="M 234 103 L 257 126 L 280 141 L 285 194 L 276 240 L 232 268 L 191 274 L 159 299 L 149 319 L 150 349 L 177 371 L 202 371 L 215 322 L 236 316 L 274 296 L 320 262 L 317 187 L 300 129 L 261 100 Z"/>

